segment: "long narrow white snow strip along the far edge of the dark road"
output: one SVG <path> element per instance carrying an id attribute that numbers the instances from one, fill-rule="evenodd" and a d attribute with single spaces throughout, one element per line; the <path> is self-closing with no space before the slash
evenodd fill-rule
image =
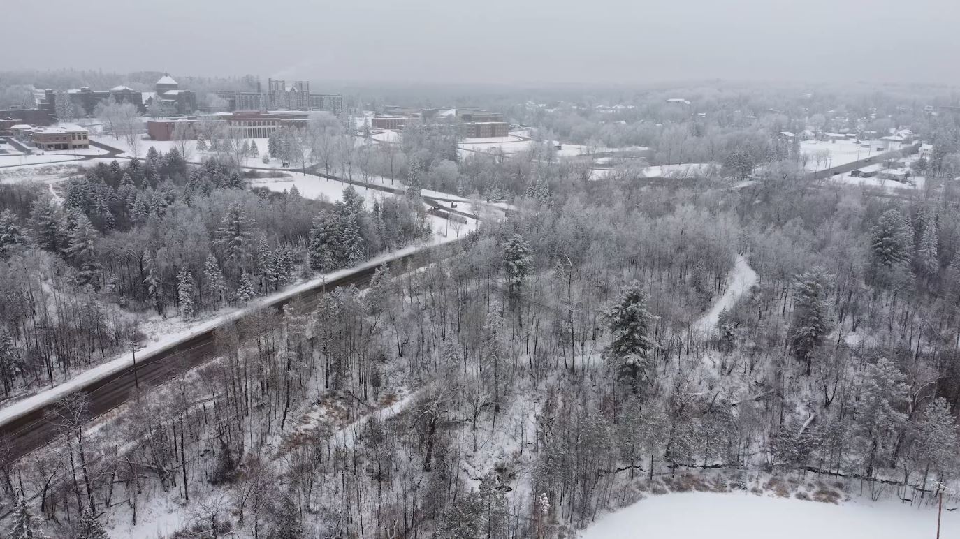
<path id="1" fill-rule="evenodd" d="M 454 240 L 456 240 L 456 237 L 453 235 L 447 238 L 435 237 L 431 243 L 433 245 L 439 245 L 439 244 L 452 242 Z M 254 311 L 256 309 L 260 309 L 266 306 L 270 302 L 283 301 L 286 299 L 290 299 L 295 295 L 297 295 L 298 293 L 314 288 L 317 285 L 323 283 L 324 281 L 339 279 L 341 277 L 347 276 L 356 271 L 374 268 L 376 266 L 384 264 L 385 262 L 388 262 L 395 258 L 399 258 L 404 255 L 413 253 L 420 248 L 422 248 L 421 245 L 407 246 L 402 249 L 396 250 L 392 253 L 387 253 L 387 254 L 374 257 L 370 261 L 365 262 L 364 264 L 361 264 L 355 268 L 340 269 L 338 271 L 333 271 L 331 273 L 325 273 L 324 275 L 320 275 L 310 280 L 304 281 L 299 285 L 291 287 L 285 291 L 266 295 L 263 297 L 258 297 L 252 302 L 250 302 L 250 304 L 245 308 L 234 309 L 232 311 L 229 311 L 226 314 L 211 317 L 199 324 L 190 326 L 188 329 L 185 329 L 181 332 L 165 334 L 162 337 L 156 339 L 154 342 L 151 342 L 146 346 L 144 346 L 141 350 L 137 352 L 137 354 L 140 356 L 141 359 L 147 357 L 148 355 L 156 354 L 161 350 L 165 350 L 167 348 L 177 345 L 183 340 L 188 340 L 193 336 L 204 333 L 223 323 L 226 323 L 228 321 L 235 320 L 241 316 L 244 316 L 248 312 Z M 84 387 L 93 381 L 106 378 L 116 372 L 119 372 L 127 367 L 132 366 L 132 364 L 133 364 L 132 356 L 124 354 L 119 358 L 117 358 L 116 360 L 97 365 L 77 375 L 69 382 L 60 384 L 57 387 L 52 387 L 41 393 L 37 393 L 32 397 L 29 397 L 27 399 L 14 403 L 11 406 L 0 409 L 0 423 L 6 423 L 16 417 L 29 413 L 33 410 L 43 408 L 44 406 L 49 405 L 50 403 L 56 402 L 61 398 L 63 398 L 64 396 L 77 391 L 80 387 Z"/>

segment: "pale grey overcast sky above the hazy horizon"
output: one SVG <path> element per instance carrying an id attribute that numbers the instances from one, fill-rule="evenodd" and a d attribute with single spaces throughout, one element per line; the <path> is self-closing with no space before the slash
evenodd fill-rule
<path id="1" fill-rule="evenodd" d="M 3 0 L 0 12 L 0 69 L 960 82 L 958 0 Z"/>

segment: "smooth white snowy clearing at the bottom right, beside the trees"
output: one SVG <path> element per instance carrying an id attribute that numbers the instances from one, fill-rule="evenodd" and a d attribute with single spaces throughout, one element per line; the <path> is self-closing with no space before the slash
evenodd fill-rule
<path id="1" fill-rule="evenodd" d="M 842 505 L 754 494 L 653 496 L 601 517 L 581 539 L 917 539 L 936 533 L 935 509 L 907 504 Z M 941 537 L 960 535 L 944 511 Z"/>

